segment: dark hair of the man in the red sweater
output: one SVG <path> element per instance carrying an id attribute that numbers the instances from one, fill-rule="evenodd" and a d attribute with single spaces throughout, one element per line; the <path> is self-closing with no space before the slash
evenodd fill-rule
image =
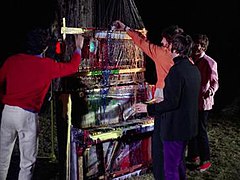
<path id="1" fill-rule="evenodd" d="M 49 41 L 49 29 L 33 28 L 26 35 L 24 48 L 28 54 L 38 55 L 48 46 Z"/>

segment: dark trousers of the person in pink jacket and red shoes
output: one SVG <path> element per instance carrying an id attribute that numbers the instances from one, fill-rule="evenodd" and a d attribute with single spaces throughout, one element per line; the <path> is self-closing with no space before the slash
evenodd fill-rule
<path id="1" fill-rule="evenodd" d="M 188 143 L 188 158 L 200 156 L 201 163 L 210 160 L 210 149 L 207 134 L 209 111 L 199 111 L 198 135 Z"/>

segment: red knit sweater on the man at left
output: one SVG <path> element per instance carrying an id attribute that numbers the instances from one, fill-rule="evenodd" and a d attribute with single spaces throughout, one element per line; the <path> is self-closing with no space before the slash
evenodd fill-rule
<path id="1" fill-rule="evenodd" d="M 0 69 L 0 101 L 39 112 L 52 80 L 77 72 L 80 59 L 78 52 L 69 63 L 27 54 L 9 57 Z"/>

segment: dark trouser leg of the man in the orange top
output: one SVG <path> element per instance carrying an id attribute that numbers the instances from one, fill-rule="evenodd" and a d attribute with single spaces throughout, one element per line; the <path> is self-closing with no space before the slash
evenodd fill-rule
<path id="1" fill-rule="evenodd" d="M 160 119 L 155 119 L 152 135 L 152 163 L 155 180 L 164 179 L 163 143 L 160 135 L 160 122 Z"/>

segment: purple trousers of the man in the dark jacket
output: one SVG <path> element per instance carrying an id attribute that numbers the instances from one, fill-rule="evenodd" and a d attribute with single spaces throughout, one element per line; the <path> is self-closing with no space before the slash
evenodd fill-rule
<path id="1" fill-rule="evenodd" d="M 184 161 L 187 141 L 163 141 L 165 180 L 185 180 Z"/>

